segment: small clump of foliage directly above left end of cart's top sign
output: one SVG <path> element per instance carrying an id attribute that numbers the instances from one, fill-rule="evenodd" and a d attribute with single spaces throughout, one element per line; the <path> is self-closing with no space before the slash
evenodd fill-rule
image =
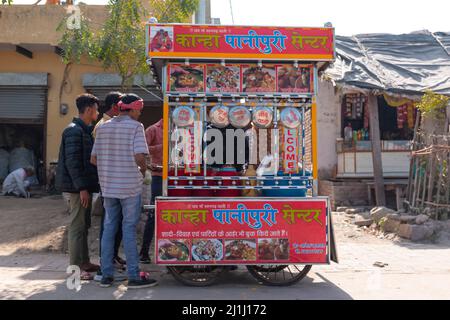
<path id="1" fill-rule="evenodd" d="M 150 0 L 151 15 L 160 23 L 190 22 L 199 0 Z"/>

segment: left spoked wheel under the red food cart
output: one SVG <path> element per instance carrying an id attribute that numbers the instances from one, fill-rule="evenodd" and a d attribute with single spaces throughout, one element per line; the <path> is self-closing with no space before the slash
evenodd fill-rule
<path id="1" fill-rule="evenodd" d="M 187 286 L 206 287 L 214 284 L 224 272 L 220 266 L 167 267 L 175 279 Z"/>

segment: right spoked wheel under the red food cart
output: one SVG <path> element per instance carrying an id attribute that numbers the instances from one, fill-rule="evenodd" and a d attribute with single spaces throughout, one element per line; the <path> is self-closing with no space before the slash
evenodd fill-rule
<path id="1" fill-rule="evenodd" d="M 290 286 L 302 280 L 311 270 L 311 265 L 257 265 L 247 266 L 250 274 L 268 286 Z"/>

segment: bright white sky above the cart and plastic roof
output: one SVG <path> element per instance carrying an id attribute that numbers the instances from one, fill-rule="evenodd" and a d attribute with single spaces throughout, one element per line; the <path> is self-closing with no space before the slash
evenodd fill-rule
<path id="1" fill-rule="evenodd" d="M 35 0 L 15 0 L 29 4 Z M 105 4 L 107 0 L 83 0 Z M 211 0 L 212 16 L 232 25 L 230 0 Z M 322 27 L 338 35 L 450 32 L 450 0 L 231 0 L 235 25 Z"/>

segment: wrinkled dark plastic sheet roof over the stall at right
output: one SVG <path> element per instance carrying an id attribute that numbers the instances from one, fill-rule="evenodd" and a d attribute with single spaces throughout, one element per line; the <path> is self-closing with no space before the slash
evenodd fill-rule
<path id="1" fill-rule="evenodd" d="M 450 96 L 450 33 L 336 36 L 336 61 L 325 77 L 343 88 Z"/>

